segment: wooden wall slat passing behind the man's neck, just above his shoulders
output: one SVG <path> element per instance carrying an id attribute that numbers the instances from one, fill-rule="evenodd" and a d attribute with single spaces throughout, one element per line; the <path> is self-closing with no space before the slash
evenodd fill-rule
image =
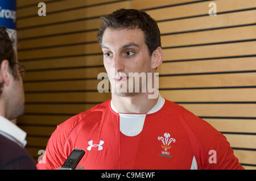
<path id="1" fill-rule="evenodd" d="M 160 94 L 172 102 L 256 102 L 255 89 L 164 90 Z M 218 96 L 216 96 L 218 95 Z M 249 96 L 250 95 L 250 96 Z M 111 93 L 56 92 L 26 94 L 26 102 L 104 102 Z M 256 104 L 255 104 L 256 105 Z"/>

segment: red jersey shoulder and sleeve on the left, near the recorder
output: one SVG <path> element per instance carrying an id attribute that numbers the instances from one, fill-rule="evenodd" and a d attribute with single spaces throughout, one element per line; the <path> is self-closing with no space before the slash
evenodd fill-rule
<path id="1" fill-rule="evenodd" d="M 110 100 L 97 104 L 88 111 L 81 112 L 60 125 L 52 133 L 48 140 L 45 154 L 38 163 L 38 169 L 57 169 L 67 159 L 69 152 L 75 145 L 76 136 L 80 128 L 86 124 L 86 120 L 101 119 L 102 113 L 109 108 Z"/>

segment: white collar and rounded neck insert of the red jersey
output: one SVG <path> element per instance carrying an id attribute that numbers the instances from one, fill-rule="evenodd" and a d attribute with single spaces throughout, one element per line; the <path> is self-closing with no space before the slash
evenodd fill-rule
<path id="1" fill-rule="evenodd" d="M 164 105 L 165 99 L 159 95 L 158 103 L 147 114 L 159 111 Z M 113 111 L 119 113 L 114 107 L 111 100 L 111 108 Z M 119 113 L 120 117 L 120 131 L 126 136 L 137 136 L 141 133 L 144 125 L 144 120 L 147 114 L 132 114 L 132 113 Z"/>

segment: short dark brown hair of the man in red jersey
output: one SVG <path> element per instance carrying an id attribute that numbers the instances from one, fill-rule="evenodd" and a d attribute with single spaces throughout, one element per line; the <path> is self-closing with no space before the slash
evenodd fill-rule
<path id="1" fill-rule="evenodd" d="M 155 19 L 144 11 L 135 9 L 119 9 L 112 14 L 101 16 L 103 20 L 98 30 L 98 43 L 102 44 L 102 36 L 106 28 L 134 29 L 140 28 L 144 33 L 144 41 L 150 56 L 154 50 L 161 46 L 160 31 Z"/>

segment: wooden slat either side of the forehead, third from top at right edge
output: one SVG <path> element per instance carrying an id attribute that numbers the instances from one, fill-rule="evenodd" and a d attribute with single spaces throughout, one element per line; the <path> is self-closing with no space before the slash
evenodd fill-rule
<path id="1" fill-rule="evenodd" d="M 256 26 L 227 28 L 223 30 L 190 32 L 161 36 L 162 47 L 176 47 L 182 45 L 218 43 L 224 41 L 255 39 Z M 54 45 L 68 45 L 97 41 L 97 31 L 73 33 L 43 37 L 39 39 L 24 40 L 20 42 L 19 49 L 49 47 Z M 240 36 L 237 36 L 240 35 Z"/>

